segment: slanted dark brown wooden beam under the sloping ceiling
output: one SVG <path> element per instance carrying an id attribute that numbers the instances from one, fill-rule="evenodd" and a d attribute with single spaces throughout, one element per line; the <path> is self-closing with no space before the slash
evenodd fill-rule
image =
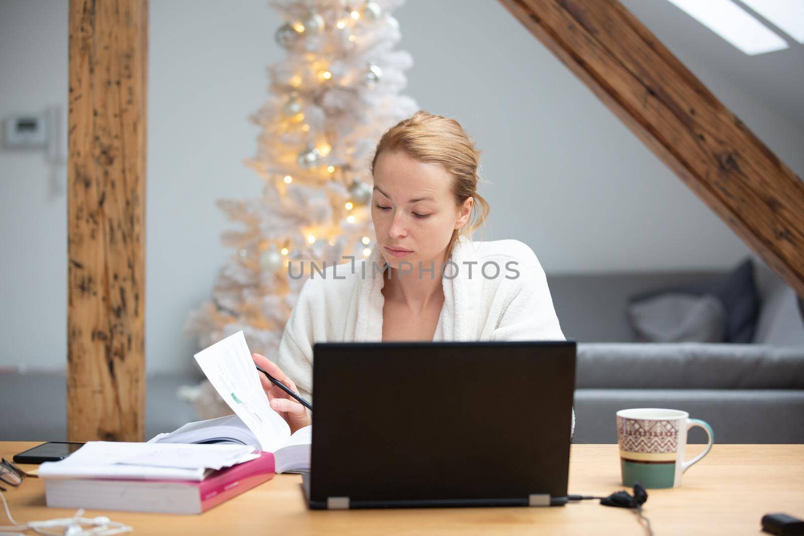
<path id="1" fill-rule="evenodd" d="M 500 2 L 804 297 L 801 178 L 634 15 L 617 0 Z"/>

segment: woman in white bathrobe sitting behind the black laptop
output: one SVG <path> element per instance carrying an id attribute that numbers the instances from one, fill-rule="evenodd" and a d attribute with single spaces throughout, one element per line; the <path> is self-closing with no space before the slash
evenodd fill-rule
<path id="1" fill-rule="evenodd" d="M 310 397 L 315 342 L 565 340 L 531 248 L 470 240 L 489 212 L 478 164 L 474 141 L 453 119 L 419 111 L 388 129 L 371 162 L 371 256 L 307 280 L 277 362 L 260 354 L 254 362 Z M 259 375 L 292 432 L 311 423 L 305 407 Z"/>

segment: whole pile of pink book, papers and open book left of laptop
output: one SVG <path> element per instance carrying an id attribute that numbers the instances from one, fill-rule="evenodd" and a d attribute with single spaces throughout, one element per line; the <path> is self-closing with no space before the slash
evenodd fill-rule
<path id="1" fill-rule="evenodd" d="M 195 359 L 235 415 L 188 423 L 148 443 L 92 441 L 45 462 L 39 477 L 47 505 L 201 513 L 275 473 L 310 470 L 312 427 L 291 434 L 270 407 L 242 331 Z"/>

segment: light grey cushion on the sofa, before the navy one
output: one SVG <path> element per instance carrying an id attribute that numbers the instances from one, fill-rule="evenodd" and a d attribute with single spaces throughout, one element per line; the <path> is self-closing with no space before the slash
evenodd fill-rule
<path id="1" fill-rule="evenodd" d="M 725 310 L 710 294 L 664 293 L 628 306 L 640 342 L 721 342 Z"/>

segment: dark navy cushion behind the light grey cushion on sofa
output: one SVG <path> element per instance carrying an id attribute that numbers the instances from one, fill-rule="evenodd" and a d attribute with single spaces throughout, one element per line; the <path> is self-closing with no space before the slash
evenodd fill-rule
<path id="1" fill-rule="evenodd" d="M 726 312 L 723 342 L 752 342 L 757 328 L 760 297 L 754 279 L 751 259 L 745 260 L 732 272 L 701 283 L 663 288 L 641 293 L 631 303 L 656 297 L 662 293 L 687 293 L 693 296 L 710 294 L 720 299 Z"/>

